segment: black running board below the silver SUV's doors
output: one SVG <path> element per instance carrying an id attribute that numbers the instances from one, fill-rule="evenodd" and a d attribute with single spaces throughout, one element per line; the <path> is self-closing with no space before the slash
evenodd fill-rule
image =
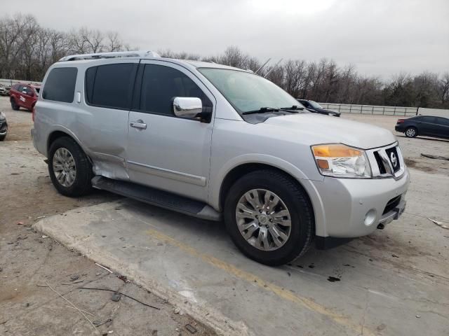
<path id="1" fill-rule="evenodd" d="M 208 204 L 191 200 L 187 197 L 168 193 L 139 184 L 108 179 L 104 176 L 95 176 L 92 179 L 93 188 L 110 191 L 111 193 L 133 198 L 140 202 L 155 205 L 168 210 L 173 210 L 206 219 L 208 221 L 221 221 L 221 214 Z"/>

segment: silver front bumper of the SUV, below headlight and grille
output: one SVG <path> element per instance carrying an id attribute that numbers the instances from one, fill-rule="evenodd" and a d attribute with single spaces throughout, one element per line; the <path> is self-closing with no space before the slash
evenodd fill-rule
<path id="1" fill-rule="evenodd" d="M 335 179 L 326 177 L 314 186 L 321 197 L 323 223 L 320 237 L 353 238 L 369 235 L 391 223 L 406 207 L 410 177 L 400 179 Z"/>

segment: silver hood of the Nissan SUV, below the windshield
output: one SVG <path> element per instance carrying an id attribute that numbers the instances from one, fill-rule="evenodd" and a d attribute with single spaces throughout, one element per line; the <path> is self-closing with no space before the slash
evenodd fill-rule
<path id="1" fill-rule="evenodd" d="M 396 137 L 384 128 L 316 113 L 268 118 L 258 125 L 269 127 L 272 131 L 274 128 L 280 137 L 291 136 L 291 132 L 294 132 L 296 137 L 302 139 L 302 143 L 309 145 L 339 143 L 369 149 L 396 141 Z"/>

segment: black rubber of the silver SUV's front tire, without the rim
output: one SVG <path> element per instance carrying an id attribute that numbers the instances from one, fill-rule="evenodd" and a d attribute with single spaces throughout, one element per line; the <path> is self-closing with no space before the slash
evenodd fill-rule
<path id="1" fill-rule="evenodd" d="M 278 195 L 290 212 L 290 236 L 274 251 L 262 251 L 241 235 L 236 221 L 240 198 L 253 189 L 265 189 Z M 314 237 L 314 215 L 305 191 L 290 176 L 271 169 L 251 172 L 236 181 L 229 190 L 224 209 L 227 231 L 240 251 L 265 265 L 283 265 L 307 252 Z"/>

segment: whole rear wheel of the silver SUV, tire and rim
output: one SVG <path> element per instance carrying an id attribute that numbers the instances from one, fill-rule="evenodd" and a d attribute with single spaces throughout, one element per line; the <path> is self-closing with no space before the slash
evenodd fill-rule
<path id="1" fill-rule="evenodd" d="M 51 144 L 48 172 L 53 186 L 62 195 L 78 197 L 92 192 L 91 162 L 72 138 L 60 137 Z"/>

